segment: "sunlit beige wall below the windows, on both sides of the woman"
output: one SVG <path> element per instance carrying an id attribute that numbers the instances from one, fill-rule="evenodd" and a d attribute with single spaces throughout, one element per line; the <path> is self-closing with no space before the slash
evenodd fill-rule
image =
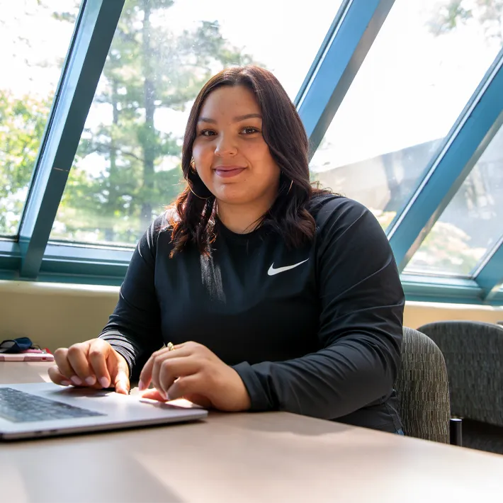
<path id="1" fill-rule="evenodd" d="M 0 341 L 30 337 L 54 351 L 96 337 L 118 299 L 117 287 L 0 281 Z M 404 324 L 437 320 L 503 320 L 502 307 L 407 303 Z"/>

